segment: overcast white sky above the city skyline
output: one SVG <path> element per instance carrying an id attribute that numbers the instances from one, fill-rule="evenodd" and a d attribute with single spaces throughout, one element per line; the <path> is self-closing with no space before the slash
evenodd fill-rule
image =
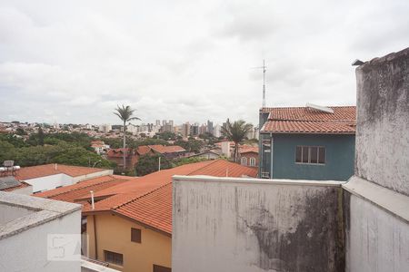
<path id="1" fill-rule="evenodd" d="M 409 1 L 0 2 L 0 121 L 255 123 L 355 103 L 351 63 L 409 46 Z"/>

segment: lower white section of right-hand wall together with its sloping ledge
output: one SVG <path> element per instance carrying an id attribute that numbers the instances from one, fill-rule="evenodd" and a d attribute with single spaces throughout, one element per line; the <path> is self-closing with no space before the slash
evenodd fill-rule
<path id="1" fill-rule="evenodd" d="M 409 197 L 357 177 L 343 187 L 345 271 L 409 271 Z"/>

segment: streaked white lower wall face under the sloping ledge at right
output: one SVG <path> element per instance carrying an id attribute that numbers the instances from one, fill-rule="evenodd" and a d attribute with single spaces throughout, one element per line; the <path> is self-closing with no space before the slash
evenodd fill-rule
<path id="1" fill-rule="evenodd" d="M 409 271 L 409 224 L 367 200 L 349 198 L 345 271 Z"/>

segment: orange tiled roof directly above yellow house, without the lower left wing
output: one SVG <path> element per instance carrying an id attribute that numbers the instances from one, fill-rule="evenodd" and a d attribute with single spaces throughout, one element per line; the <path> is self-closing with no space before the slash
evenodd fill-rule
<path id="1" fill-rule="evenodd" d="M 256 177 L 257 170 L 226 160 L 209 160 L 185 164 L 170 170 L 161 170 L 134 181 L 101 190 L 114 196 L 95 203 L 95 210 L 87 205 L 85 213 L 112 210 L 145 225 L 172 233 L 172 176 L 208 175 L 215 177 Z M 155 186 L 150 186 L 155 183 Z"/>

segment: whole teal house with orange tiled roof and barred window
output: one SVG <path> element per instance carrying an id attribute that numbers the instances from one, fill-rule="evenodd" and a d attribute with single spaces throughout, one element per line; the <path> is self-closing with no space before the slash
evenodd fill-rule
<path id="1" fill-rule="evenodd" d="M 346 107 L 260 110 L 259 177 L 348 180 L 354 174 L 356 109 Z"/>

